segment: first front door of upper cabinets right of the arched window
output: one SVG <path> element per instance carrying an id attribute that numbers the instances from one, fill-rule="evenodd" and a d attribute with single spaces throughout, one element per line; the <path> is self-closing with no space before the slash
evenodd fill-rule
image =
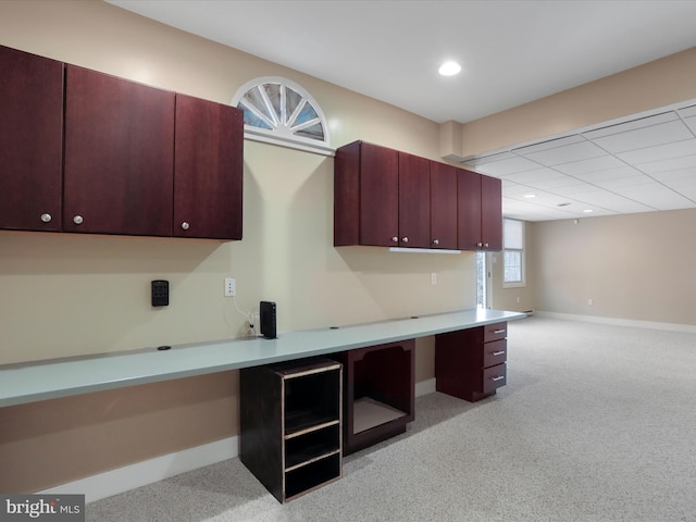
<path id="1" fill-rule="evenodd" d="M 360 245 L 396 246 L 398 217 L 398 152 L 363 142 L 360 147 Z"/>

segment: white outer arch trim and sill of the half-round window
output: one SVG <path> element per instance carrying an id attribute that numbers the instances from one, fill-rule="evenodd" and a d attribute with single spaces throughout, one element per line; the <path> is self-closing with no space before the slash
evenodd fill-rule
<path id="1" fill-rule="evenodd" d="M 300 94 L 309 104 L 312 105 L 319 120 L 324 129 L 324 140 L 320 141 L 318 139 L 304 138 L 302 136 L 296 136 L 291 134 L 286 127 L 277 126 L 273 129 L 265 129 L 260 127 L 254 127 L 251 125 L 244 126 L 244 137 L 245 139 L 250 139 L 252 141 L 260 141 L 264 144 L 277 145 L 281 147 L 288 147 L 291 149 L 303 150 L 307 152 L 314 152 L 323 156 L 335 156 L 336 149 L 331 146 L 331 138 L 328 135 L 328 123 L 326 121 L 326 116 L 324 112 L 321 110 L 314 98 L 307 92 L 301 86 L 291 82 L 287 78 L 283 78 L 281 76 L 262 76 L 259 78 L 254 78 L 250 82 L 244 84 L 234 98 L 232 99 L 232 105 L 237 107 L 244 96 L 253 87 L 257 87 L 262 84 L 281 84 L 285 85 L 296 92 Z M 253 112 L 253 111 L 252 111 Z"/>

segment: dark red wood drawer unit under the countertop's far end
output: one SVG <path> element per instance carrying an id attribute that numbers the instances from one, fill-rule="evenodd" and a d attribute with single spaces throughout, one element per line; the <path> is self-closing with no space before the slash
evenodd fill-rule
<path id="1" fill-rule="evenodd" d="M 501 322 L 437 335 L 436 389 L 474 402 L 505 386 L 507 330 Z"/>

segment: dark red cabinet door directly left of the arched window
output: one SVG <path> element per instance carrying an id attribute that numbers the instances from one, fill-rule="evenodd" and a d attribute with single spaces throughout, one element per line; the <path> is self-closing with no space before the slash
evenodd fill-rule
<path id="1" fill-rule="evenodd" d="M 176 95 L 174 147 L 173 234 L 241 239 L 241 111 Z"/>

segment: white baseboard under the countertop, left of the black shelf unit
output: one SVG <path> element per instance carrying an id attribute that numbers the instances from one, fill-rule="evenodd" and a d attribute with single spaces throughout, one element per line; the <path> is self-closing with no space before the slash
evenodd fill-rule
<path id="1" fill-rule="evenodd" d="M 238 437 L 229 437 L 195 448 L 164 455 L 154 459 L 137 462 L 117 470 L 87 476 L 79 481 L 62 484 L 44 492 L 46 495 L 85 495 L 85 502 L 94 502 L 119 493 L 152 484 L 170 476 L 214 464 L 237 457 Z"/>

